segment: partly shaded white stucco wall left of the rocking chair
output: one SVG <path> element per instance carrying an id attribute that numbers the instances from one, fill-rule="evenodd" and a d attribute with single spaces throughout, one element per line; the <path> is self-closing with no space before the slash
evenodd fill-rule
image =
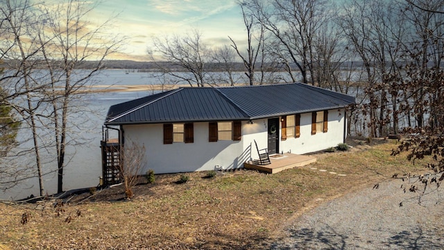
<path id="1" fill-rule="evenodd" d="M 242 122 L 244 128 L 245 122 Z M 250 148 L 241 141 L 208 142 L 208 123 L 194 123 L 194 143 L 163 144 L 163 124 L 123 126 L 126 142 L 144 144 L 146 149 L 141 174 L 153 169 L 156 174 L 194 172 L 243 167 L 250 159 Z"/>

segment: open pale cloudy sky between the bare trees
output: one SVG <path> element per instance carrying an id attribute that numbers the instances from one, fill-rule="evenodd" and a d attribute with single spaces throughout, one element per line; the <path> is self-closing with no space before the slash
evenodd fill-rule
<path id="1" fill-rule="evenodd" d="M 147 49 L 153 36 L 184 35 L 197 29 L 213 47 L 245 40 L 241 9 L 235 0 L 106 0 L 89 13 L 93 23 L 113 15 L 113 34 L 128 40 L 122 53 L 109 59 L 148 60 Z"/>

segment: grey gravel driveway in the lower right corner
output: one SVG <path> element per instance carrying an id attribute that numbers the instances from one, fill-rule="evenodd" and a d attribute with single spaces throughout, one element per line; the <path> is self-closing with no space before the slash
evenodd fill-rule
<path id="1" fill-rule="evenodd" d="M 272 249 L 444 249 L 444 197 L 434 192 L 421 206 L 401 184 L 382 183 L 318 206 Z"/>

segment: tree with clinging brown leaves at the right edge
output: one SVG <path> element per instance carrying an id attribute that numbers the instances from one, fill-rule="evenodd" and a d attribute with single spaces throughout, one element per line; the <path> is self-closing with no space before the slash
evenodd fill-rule
<path id="1" fill-rule="evenodd" d="M 402 178 L 402 181 L 414 180 L 410 184 L 403 184 L 402 188 L 404 192 L 418 192 L 421 198 L 439 190 L 444 181 L 444 71 L 441 65 L 444 59 L 444 2 L 407 1 L 400 7 L 409 24 L 409 39 L 402 41 L 402 51 L 405 51 L 403 58 L 407 63 L 399 73 L 387 78 L 397 83 L 398 90 L 413 102 L 413 108 L 403 103 L 400 110 L 413 109 L 418 124 L 416 128 L 404 128 L 404 138 L 392 154 L 408 151 L 407 159 L 413 163 L 429 157 L 426 161 L 429 171 L 420 175 L 393 177 Z"/>

